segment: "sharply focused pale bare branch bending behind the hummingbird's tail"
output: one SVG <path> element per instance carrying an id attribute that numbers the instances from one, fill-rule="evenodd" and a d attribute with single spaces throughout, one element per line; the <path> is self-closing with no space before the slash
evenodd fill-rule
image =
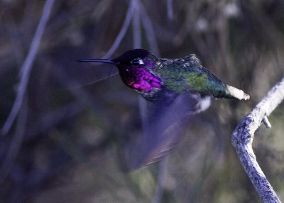
<path id="1" fill-rule="evenodd" d="M 284 99 L 284 77 L 275 84 L 256 107 L 241 120 L 232 134 L 231 143 L 241 160 L 244 170 L 251 179 L 263 202 L 280 202 L 271 184 L 261 170 L 253 153 L 252 142 L 256 129 L 261 123 L 271 128 L 268 116 Z"/>

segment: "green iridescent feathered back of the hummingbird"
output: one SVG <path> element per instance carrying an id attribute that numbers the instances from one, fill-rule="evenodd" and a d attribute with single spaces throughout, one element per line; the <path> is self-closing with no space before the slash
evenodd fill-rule
<path id="1" fill-rule="evenodd" d="M 162 60 L 156 72 L 163 78 L 165 87 L 178 94 L 190 91 L 203 96 L 226 97 L 226 84 L 202 67 L 194 54 Z"/>

